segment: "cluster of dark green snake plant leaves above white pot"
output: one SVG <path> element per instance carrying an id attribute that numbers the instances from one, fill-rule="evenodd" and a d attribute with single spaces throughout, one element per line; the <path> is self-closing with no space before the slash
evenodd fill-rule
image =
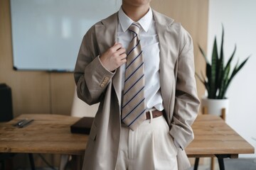
<path id="1" fill-rule="evenodd" d="M 231 72 L 231 62 L 233 61 L 236 52 L 235 45 L 235 49 L 233 50 L 232 55 L 229 57 L 227 64 L 224 65 L 224 27 L 222 26 L 222 28 L 223 33 L 220 45 L 220 53 L 218 56 L 218 48 L 215 37 L 211 56 L 211 63 L 208 61 L 206 53 L 198 45 L 199 50 L 203 55 L 204 60 L 206 61 L 206 76 L 204 76 L 201 72 L 201 77 L 198 74 L 197 77 L 206 87 L 206 90 L 208 91 L 208 98 L 225 98 L 225 93 L 228 89 L 228 86 L 230 86 L 230 82 L 233 80 L 235 75 L 240 71 L 240 69 L 244 67 L 245 63 L 250 57 L 247 57 L 241 64 L 237 63 Z"/>

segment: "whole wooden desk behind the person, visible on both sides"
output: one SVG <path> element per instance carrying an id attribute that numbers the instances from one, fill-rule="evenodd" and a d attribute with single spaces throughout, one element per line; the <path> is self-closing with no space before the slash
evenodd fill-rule
<path id="1" fill-rule="evenodd" d="M 23 118 L 34 121 L 26 128 L 13 126 Z M 82 156 L 88 136 L 70 133 L 70 125 L 78 119 L 66 115 L 20 115 L 9 123 L 0 124 L 0 152 Z M 216 156 L 223 160 L 254 153 L 254 147 L 218 116 L 198 115 L 193 130 L 195 140 L 186 148 L 188 157 Z"/>

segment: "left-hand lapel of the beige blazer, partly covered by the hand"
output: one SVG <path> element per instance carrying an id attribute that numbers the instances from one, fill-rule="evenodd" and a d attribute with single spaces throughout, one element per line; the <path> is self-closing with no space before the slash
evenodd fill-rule
<path id="1" fill-rule="evenodd" d="M 118 15 L 114 13 L 112 16 L 101 21 L 102 24 L 95 26 L 95 33 L 97 35 L 97 44 L 99 46 L 100 54 L 107 51 L 117 42 L 117 25 Z M 112 77 L 112 84 L 117 94 L 119 103 L 121 103 L 122 94 L 122 74 L 120 67 L 116 70 L 114 77 Z"/>

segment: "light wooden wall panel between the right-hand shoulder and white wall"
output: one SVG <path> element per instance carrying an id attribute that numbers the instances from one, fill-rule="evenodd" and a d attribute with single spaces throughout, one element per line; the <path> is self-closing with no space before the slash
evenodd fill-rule
<path id="1" fill-rule="evenodd" d="M 207 47 L 208 0 L 152 0 L 151 7 L 174 18 L 188 30 L 193 38 L 196 72 L 204 70 L 206 64 L 198 50 L 198 45 L 203 49 Z M 201 98 L 205 88 L 198 79 L 196 80 L 198 96 Z"/>

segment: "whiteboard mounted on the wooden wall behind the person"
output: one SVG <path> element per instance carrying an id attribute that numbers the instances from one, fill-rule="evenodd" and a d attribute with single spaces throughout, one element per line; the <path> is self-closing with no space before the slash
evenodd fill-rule
<path id="1" fill-rule="evenodd" d="M 83 35 L 119 0 L 11 0 L 14 69 L 73 72 Z"/>

